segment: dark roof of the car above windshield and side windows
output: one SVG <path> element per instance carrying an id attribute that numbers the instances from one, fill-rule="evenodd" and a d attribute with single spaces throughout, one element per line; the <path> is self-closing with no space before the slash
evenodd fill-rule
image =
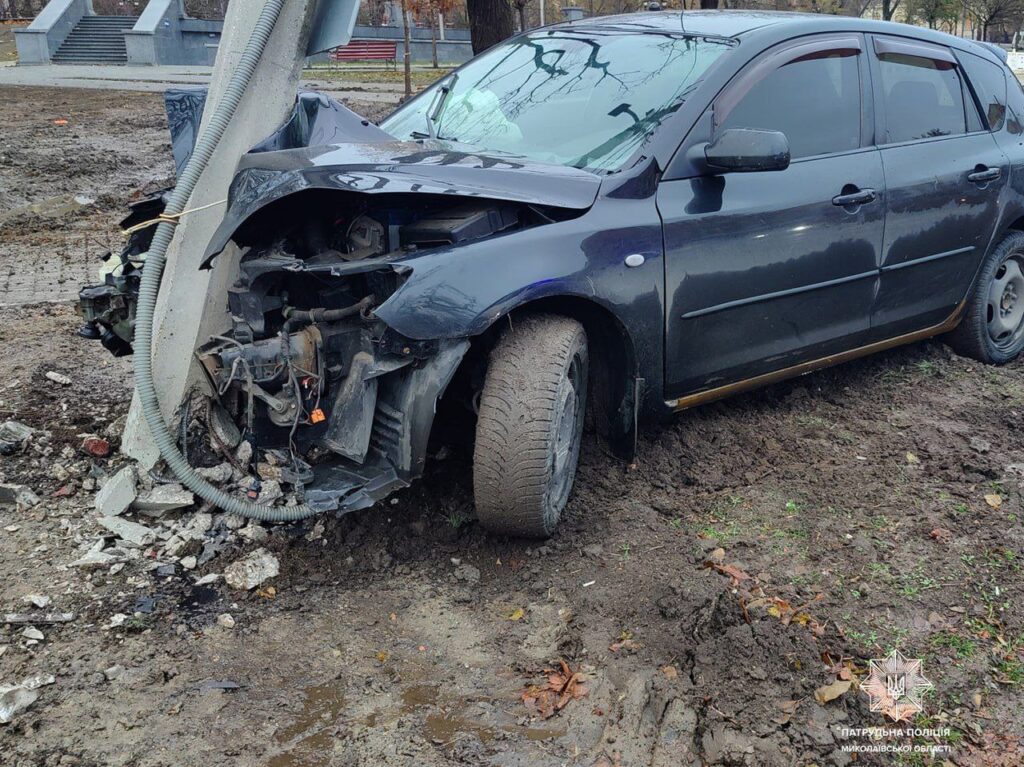
<path id="1" fill-rule="evenodd" d="M 611 16 L 591 16 L 575 22 L 556 24 L 545 30 L 594 30 L 601 32 L 649 32 L 652 34 L 685 33 L 742 39 L 751 33 L 767 33 L 792 37 L 817 32 L 873 32 L 877 34 L 914 37 L 940 45 L 949 45 L 998 58 L 987 46 L 972 40 L 947 35 L 896 22 L 880 22 L 855 16 L 835 16 L 826 13 L 800 13 L 777 10 L 687 10 L 642 11 Z"/>

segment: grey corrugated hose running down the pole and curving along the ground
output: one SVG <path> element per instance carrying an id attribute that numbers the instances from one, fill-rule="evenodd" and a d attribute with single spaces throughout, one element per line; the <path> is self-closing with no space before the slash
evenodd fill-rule
<path id="1" fill-rule="evenodd" d="M 188 203 L 188 198 L 191 197 L 193 189 L 196 188 L 196 183 L 210 162 L 214 150 L 220 143 L 228 123 L 239 108 L 239 102 L 249 86 L 249 81 L 252 79 L 256 65 L 263 54 L 263 49 L 266 47 L 267 40 L 270 38 L 270 33 L 278 23 L 284 5 L 285 0 L 266 0 L 263 5 L 259 19 L 256 22 L 242 57 L 239 59 L 238 68 L 231 74 L 223 96 L 213 110 L 209 122 L 196 142 L 188 164 L 171 194 L 164 211 L 166 214 L 174 216 L 185 210 L 185 205 Z M 175 476 L 188 489 L 205 501 L 209 501 L 232 514 L 265 522 L 289 522 L 318 513 L 316 509 L 311 509 L 306 505 L 274 507 L 251 503 L 230 496 L 218 487 L 214 487 L 197 474 L 178 451 L 174 437 L 167 428 L 160 411 L 157 390 L 153 384 L 152 357 L 153 314 L 157 306 L 157 295 L 160 292 L 164 265 L 167 262 L 167 248 L 173 237 L 173 224 L 165 222 L 157 226 L 150 252 L 145 257 L 145 265 L 142 267 L 138 307 L 135 315 L 135 387 L 138 390 L 142 415 L 145 417 L 153 440 L 160 449 L 160 455 L 163 456 Z"/>

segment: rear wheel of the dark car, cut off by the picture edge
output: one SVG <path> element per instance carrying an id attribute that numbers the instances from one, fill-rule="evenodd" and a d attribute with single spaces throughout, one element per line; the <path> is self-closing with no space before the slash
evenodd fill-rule
<path id="1" fill-rule="evenodd" d="M 1012 231 L 985 257 L 964 317 L 945 338 L 953 351 L 1006 365 L 1024 348 L 1024 231 Z"/>

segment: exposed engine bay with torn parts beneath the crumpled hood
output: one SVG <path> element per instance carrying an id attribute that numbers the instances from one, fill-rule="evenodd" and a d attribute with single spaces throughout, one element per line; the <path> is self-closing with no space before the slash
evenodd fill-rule
<path id="1" fill-rule="evenodd" d="M 272 451 L 301 501 L 349 511 L 419 476 L 436 399 L 469 346 L 414 341 L 375 316 L 403 279 L 400 259 L 543 218 L 521 204 L 422 196 L 336 204 L 326 198 L 284 235 L 274 216 L 272 241 L 258 221 L 240 230 L 231 328 L 197 353 L 254 454 Z"/>

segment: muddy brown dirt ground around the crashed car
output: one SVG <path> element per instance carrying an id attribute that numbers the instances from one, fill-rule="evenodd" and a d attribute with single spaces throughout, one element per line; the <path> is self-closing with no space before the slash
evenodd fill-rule
<path id="1" fill-rule="evenodd" d="M 145 547 L 69 567 L 123 463 L 82 438 L 117 433 L 131 364 L 80 340 L 65 299 L 171 164 L 156 96 L 0 89 L 0 422 L 38 430 L 0 482 L 42 498 L 0 506 L 0 609 L 75 615 L 42 640 L 0 624 L 0 685 L 55 678 L 0 725 L 4 765 L 1024 761 L 1024 365 L 938 342 L 651 427 L 632 466 L 590 439 L 545 545 L 479 528 L 456 450 L 391 503 L 262 543 L 214 517 L 227 543 L 190 571 Z M 93 202 L 48 202 L 66 195 Z M 196 585 L 260 546 L 281 563 L 264 588 Z M 934 684 L 923 731 L 844 736 L 885 724 L 858 685 L 892 648 Z M 560 662 L 580 676 L 545 718 Z M 907 751 L 844 751 L 871 744 Z"/>

